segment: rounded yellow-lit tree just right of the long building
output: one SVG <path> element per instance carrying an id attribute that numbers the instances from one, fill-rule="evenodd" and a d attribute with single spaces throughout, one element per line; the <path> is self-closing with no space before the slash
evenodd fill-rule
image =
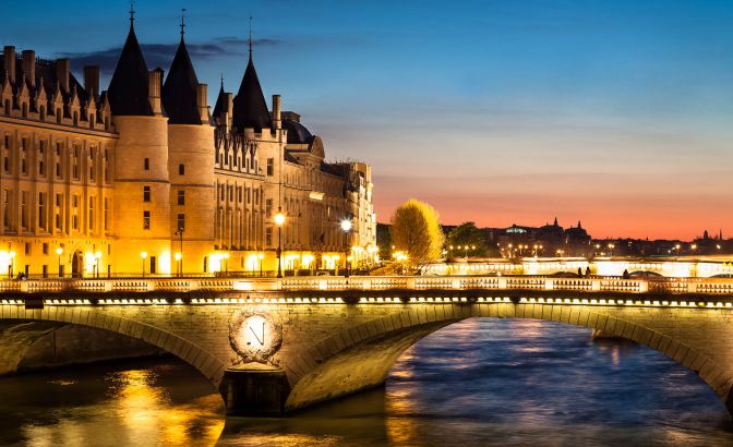
<path id="1" fill-rule="evenodd" d="M 411 266 L 441 257 L 445 237 L 437 212 L 424 202 L 411 198 L 400 205 L 392 217 L 389 233 L 395 253 L 406 255 L 400 261 Z"/>

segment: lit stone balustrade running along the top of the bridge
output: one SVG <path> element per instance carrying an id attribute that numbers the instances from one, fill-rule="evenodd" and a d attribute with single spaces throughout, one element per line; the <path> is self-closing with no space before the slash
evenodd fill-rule
<path id="1" fill-rule="evenodd" d="M 623 293 L 732 294 L 729 278 L 557 278 L 546 276 L 352 276 L 289 278 L 127 278 L 0 280 L 0 292 L 190 292 L 266 290 L 567 290 Z"/>

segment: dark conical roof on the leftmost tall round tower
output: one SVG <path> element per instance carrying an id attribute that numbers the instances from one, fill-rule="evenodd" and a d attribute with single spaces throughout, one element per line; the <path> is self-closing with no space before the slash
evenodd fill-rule
<path id="1" fill-rule="evenodd" d="M 148 98 L 148 71 L 140 49 L 135 28 L 130 33 L 109 83 L 109 105 L 116 116 L 153 116 Z"/>

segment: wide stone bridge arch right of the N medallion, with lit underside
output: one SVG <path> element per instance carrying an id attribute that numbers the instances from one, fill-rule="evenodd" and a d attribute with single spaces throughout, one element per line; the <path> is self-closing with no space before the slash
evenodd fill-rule
<path id="1" fill-rule="evenodd" d="M 470 317 L 544 319 L 601 330 L 659 351 L 697 373 L 733 414 L 733 375 L 709 355 L 659 330 L 611 315 L 610 310 L 550 304 L 420 304 L 344 329 L 316 342 L 289 371 L 296 383 L 287 408 L 378 386 L 401 353 L 423 337 Z"/>

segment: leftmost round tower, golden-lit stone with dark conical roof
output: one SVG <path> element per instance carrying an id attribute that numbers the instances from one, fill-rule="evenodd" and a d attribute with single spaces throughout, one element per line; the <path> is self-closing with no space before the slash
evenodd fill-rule
<path id="1" fill-rule="evenodd" d="M 147 71 L 133 22 L 109 84 L 115 149 L 112 273 L 171 273 L 168 119 L 163 71 Z"/>

